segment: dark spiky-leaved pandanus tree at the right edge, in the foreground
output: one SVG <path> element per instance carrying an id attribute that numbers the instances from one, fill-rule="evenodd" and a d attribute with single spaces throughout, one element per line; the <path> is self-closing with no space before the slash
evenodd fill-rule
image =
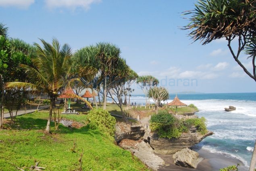
<path id="1" fill-rule="evenodd" d="M 256 40 L 256 1 L 255 0 L 198 0 L 194 10 L 184 12 L 189 16 L 189 24 L 183 27 L 190 30 L 189 37 L 206 45 L 224 38 L 233 59 L 244 72 L 256 81 L 255 40 Z M 235 44 L 232 44 L 235 42 Z M 237 51 L 234 50 L 234 47 Z M 238 48 L 237 48 L 238 47 Z M 245 52 L 252 63 L 252 71 L 244 66 L 239 55 Z M 255 141 L 256 142 L 256 141 Z M 250 171 L 256 164 L 256 143 Z"/>

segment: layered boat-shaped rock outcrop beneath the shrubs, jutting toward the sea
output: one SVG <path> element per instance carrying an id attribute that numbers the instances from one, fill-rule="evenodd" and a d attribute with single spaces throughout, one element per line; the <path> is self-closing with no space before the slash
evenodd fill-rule
<path id="1" fill-rule="evenodd" d="M 196 128 L 192 127 L 189 132 L 181 134 L 179 138 L 159 138 L 157 133 L 150 132 L 148 137 L 144 139 L 150 141 L 151 147 L 157 154 L 174 154 L 181 149 L 191 147 L 198 144 L 206 136 L 212 135 L 213 132 L 208 131 L 207 134 L 196 132 Z"/>

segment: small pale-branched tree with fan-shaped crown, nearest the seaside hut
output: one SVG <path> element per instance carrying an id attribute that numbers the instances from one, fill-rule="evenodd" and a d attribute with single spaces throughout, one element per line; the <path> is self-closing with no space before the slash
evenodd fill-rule
<path id="1" fill-rule="evenodd" d="M 169 92 L 164 87 L 152 87 L 148 90 L 148 97 L 154 100 L 156 104 L 156 114 L 158 114 L 158 107 L 161 101 L 169 99 Z"/>

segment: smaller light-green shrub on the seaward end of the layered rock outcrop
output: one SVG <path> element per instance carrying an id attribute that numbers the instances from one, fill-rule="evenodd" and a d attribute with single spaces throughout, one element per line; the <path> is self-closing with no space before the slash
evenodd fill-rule
<path id="1" fill-rule="evenodd" d="M 201 134 L 206 134 L 207 133 L 207 128 L 206 128 L 206 119 L 204 117 L 202 118 L 191 118 L 185 120 L 185 123 L 188 124 L 189 126 L 196 126 L 198 132 Z"/>

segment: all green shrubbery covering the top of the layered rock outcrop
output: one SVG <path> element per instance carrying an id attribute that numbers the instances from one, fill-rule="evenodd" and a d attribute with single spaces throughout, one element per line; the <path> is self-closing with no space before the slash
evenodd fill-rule
<path id="1" fill-rule="evenodd" d="M 157 131 L 160 138 L 179 138 L 183 132 L 187 132 L 191 126 L 196 126 L 201 134 L 207 133 L 205 118 L 193 118 L 179 120 L 167 110 L 160 110 L 150 119 L 150 129 Z"/>

